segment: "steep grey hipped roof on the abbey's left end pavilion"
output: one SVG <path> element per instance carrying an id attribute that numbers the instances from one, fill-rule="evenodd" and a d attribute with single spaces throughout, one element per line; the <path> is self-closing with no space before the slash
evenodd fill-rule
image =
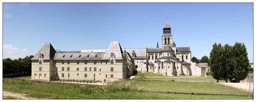
<path id="1" fill-rule="evenodd" d="M 31 60 L 38 60 L 39 54 L 43 54 L 43 60 L 53 60 L 56 50 L 51 43 L 45 43 L 45 45 L 35 54 Z"/>

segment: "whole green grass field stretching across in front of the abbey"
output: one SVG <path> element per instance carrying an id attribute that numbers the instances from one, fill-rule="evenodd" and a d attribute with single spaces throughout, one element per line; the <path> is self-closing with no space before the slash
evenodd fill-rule
<path id="1" fill-rule="evenodd" d="M 183 92 L 204 92 L 205 90 L 212 90 L 207 92 L 216 93 L 216 90 L 222 90 L 217 93 L 229 93 L 232 94 L 246 94 L 243 92 L 237 92 L 236 90 L 227 88 L 225 86 L 219 86 L 214 83 L 199 84 L 193 82 L 161 82 L 159 81 L 126 81 L 130 83 L 130 89 L 140 86 L 144 86 L 145 90 L 164 90 L 164 91 L 183 91 Z M 122 82 L 114 83 L 113 85 L 119 86 Z M 199 84 L 199 85 L 197 85 Z M 81 84 L 68 84 L 68 83 L 54 83 L 54 82 L 40 82 L 29 81 L 19 79 L 6 79 L 3 78 L 3 90 L 15 93 L 27 94 L 27 97 L 33 98 L 47 98 L 47 99 L 252 99 L 248 96 L 242 95 L 189 95 L 189 94 L 170 94 L 170 93 L 152 93 L 148 91 L 134 91 L 134 90 L 121 90 L 121 91 L 93 91 L 91 94 L 87 94 L 82 91 L 83 86 Z M 95 86 L 95 85 L 94 85 Z M 179 86 L 187 86 L 179 87 Z M 205 86 L 205 87 L 202 87 Z M 206 87 L 208 86 L 208 87 Z M 107 87 L 107 86 L 100 86 Z M 123 86 L 119 86 L 123 87 Z M 198 88 L 202 88 L 198 90 Z M 214 88 L 210 88 L 214 87 Z M 96 86 L 96 88 L 99 88 Z M 179 89 L 180 88 L 180 89 Z M 210 88 L 210 89 L 209 89 Z M 101 88 L 100 88 L 101 89 Z M 186 91 L 187 90 L 187 91 Z M 228 91 L 228 92 L 224 92 Z M 6 97 L 5 97 L 6 99 Z M 7 97 L 8 99 L 8 97 Z M 10 99 L 15 99 L 10 97 Z"/>

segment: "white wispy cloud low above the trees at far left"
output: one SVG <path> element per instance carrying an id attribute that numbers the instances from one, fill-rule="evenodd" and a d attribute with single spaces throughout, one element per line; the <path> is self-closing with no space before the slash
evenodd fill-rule
<path id="1" fill-rule="evenodd" d="M 10 59 L 18 59 L 18 58 L 25 58 L 26 56 L 33 55 L 29 52 L 28 49 L 18 49 L 13 47 L 10 44 L 3 45 L 3 58 L 10 58 Z"/>

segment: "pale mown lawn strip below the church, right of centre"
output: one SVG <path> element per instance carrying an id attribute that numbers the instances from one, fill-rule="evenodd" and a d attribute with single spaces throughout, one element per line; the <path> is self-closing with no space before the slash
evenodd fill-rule
<path id="1" fill-rule="evenodd" d="M 131 85 L 140 84 L 151 91 L 248 94 L 224 85 L 202 82 L 167 82 L 167 81 L 133 81 Z"/>

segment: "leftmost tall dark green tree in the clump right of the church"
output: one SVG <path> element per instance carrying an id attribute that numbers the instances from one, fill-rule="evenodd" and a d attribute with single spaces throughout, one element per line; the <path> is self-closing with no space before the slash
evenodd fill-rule
<path id="1" fill-rule="evenodd" d="M 211 53 L 210 53 L 210 66 L 211 66 L 211 75 L 212 77 L 217 80 L 217 83 L 219 83 L 219 80 L 221 79 L 221 62 L 220 62 L 220 56 L 222 53 L 222 46 L 221 43 L 218 45 L 216 42 L 212 45 Z"/>

